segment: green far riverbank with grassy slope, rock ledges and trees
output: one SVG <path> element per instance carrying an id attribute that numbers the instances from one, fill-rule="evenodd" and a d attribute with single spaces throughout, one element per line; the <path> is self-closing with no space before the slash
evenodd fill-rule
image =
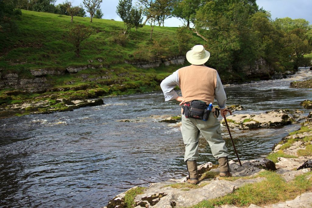
<path id="1" fill-rule="evenodd" d="M 82 6 L 76 8 L 81 14 L 72 19 L 64 9 L 66 2 L 55 11 L 53 2 L 48 2 L 49 7 L 35 12 L 37 4 L 1 1 L 0 103 L 4 107 L 51 92 L 59 98 L 71 94 L 85 99 L 160 90 L 166 76 L 188 65 L 183 61 L 185 52 L 195 44 L 210 51 L 208 65 L 218 70 L 223 83 L 270 79 L 310 65 L 311 57 L 304 56 L 311 53 L 309 22 L 272 20 L 254 0 L 170 1 L 164 4 L 171 5 L 163 8 L 165 13 L 156 4 L 143 7 L 149 21 L 159 26 L 136 27 L 126 35 L 124 22 L 98 18 L 90 22 L 80 11 Z M 160 27 L 170 15 L 187 24 Z M 82 42 L 73 38 L 80 34 L 77 28 L 87 31 Z"/>

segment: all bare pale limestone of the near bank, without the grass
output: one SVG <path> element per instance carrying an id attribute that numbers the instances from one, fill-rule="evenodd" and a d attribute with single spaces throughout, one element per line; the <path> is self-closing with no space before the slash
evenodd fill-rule
<path id="1" fill-rule="evenodd" d="M 274 112 L 274 111 L 273 111 Z M 272 113 L 273 113 L 272 112 Z M 276 113 L 276 112 L 275 112 Z M 273 114 L 275 115 L 275 114 Z M 168 115 L 167 115 L 168 116 Z M 252 116 L 254 117 L 254 116 Z M 280 117 L 280 116 L 275 116 Z M 303 138 L 305 136 L 312 136 L 312 112 L 310 112 L 306 122 L 302 125 L 308 129 L 305 132 L 295 132 L 294 135 L 288 135 L 282 139 L 287 141 L 290 137 Z M 309 141 L 312 143 L 311 141 Z M 310 144 L 309 143 L 309 144 Z M 296 143 L 290 145 L 290 147 L 283 149 L 287 155 L 296 156 L 298 148 L 305 148 L 308 144 L 302 144 L 297 146 Z M 282 144 L 273 147 L 272 153 L 279 151 Z M 198 166 L 198 172 L 200 176 L 200 182 L 196 189 L 186 188 L 174 188 L 170 185 L 177 183 L 185 183 L 187 177 L 182 179 L 170 179 L 159 183 L 150 184 L 146 188 L 143 194 L 139 194 L 134 198 L 135 207 L 153 207 L 153 208 L 171 208 L 171 207 L 189 207 L 203 200 L 214 199 L 222 197 L 234 192 L 237 188 L 246 184 L 257 183 L 264 178 L 256 177 L 257 174 L 263 170 L 276 171 L 285 181 L 292 181 L 296 176 L 303 173 L 312 171 L 312 156 L 299 156 L 297 158 L 284 158 L 278 157 L 277 162 L 274 163 L 269 159 L 261 158 L 256 160 L 241 161 L 242 166 L 239 165 L 237 160 L 231 160 L 229 162 L 230 169 L 233 176 L 254 176 L 253 178 L 243 179 L 239 178 L 235 181 L 225 181 L 217 177 L 219 168 L 213 165 L 211 162 Z M 210 173 L 210 177 L 207 176 L 207 172 Z M 212 177 L 211 177 L 212 176 Z M 311 176 L 310 176 L 311 177 Z M 133 187 L 136 188 L 136 187 Z M 125 193 L 123 192 L 114 197 L 105 208 L 117 208 L 126 207 Z M 252 207 L 311 207 L 312 204 L 312 192 L 306 192 L 297 196 L 294 200 L 279 202 L 272 205 L 256 206 L 251 204 Z M 223 205 L 222 208 L 236 208 L 233 205 Z"/>

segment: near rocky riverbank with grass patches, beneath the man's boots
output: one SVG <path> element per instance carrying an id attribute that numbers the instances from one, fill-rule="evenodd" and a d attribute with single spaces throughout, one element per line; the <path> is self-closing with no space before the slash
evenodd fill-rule
<path id="1" fill-rule="evenodd" d="M 311 207 L 311 159 L 312 112 L 267 158 L 241 161 L 242 166 L 230 161 L 231 178 L 219 177 L 218 166 L 206 163 L 198 166 L 198 185 L 185 177 L 133 187 L 106 207 Z"/>

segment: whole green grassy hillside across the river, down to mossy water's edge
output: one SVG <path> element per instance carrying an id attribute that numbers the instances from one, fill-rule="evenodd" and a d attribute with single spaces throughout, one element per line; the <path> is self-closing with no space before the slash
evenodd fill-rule
<path id="1" fill-rule="evenodd" d="M 50 106 L 57 104 L 54 110 L 60 110 L 64 106 L 54 102 L 58 98 L 75 100 L 159 90 L 160 81 L 181 67 L 161 65 L 141 69 L 129 64 L 179 56 L 177 28 L 155 26 L 152 41 L 149 25 L 138 31 L 132 28 L 129 37 L 124 39 L 120 35 L 123 22 L 95 18 L 90 22 L 88 17 L 74 17 L 71 23 L 70 16 L 26 10 L 22 10 L 22 17 L 16 24 L 17 32 L 0 33 L 2 79 L 12 73 L 18 74 L 18 79 L 34 79 L 31 71 L 42 69 L 61 75 L 41 76 L 51 86 L 41 94 L 23 92 L 23 89 L 2 89 L 2 109 L 29 100 L 46 100 Z M 75 47 L 69 41 L 69 31 L 75 24 L 93 29 L 92 35 L 81 43 L 80 57 L 76 57 Z M 204 44 L 201 38 L 192 32 L 189 34 L 189 48 Z M 85 66 L 88 67 L 77 73 L 66 71 L 67 67 Z M 53 97 L 51 102 L 50 97 Z"/>

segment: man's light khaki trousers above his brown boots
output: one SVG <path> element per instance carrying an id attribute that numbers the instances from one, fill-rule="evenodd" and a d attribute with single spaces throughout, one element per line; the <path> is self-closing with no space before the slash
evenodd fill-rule
<path id="1" fill-rule="evenodd" d="M 227 157 L 229 153 L 225 146 L 225 141 L 221 136 L 220 122 L 210 113 L 208 121 L 194 118 L 185 118 L 182 115 L 182 137 L 185 146 L 184 161 L 197 161 L 198 158 L 198 139 L 200 132 L 208 142 L 212 155 L 219 159 Z"/>

